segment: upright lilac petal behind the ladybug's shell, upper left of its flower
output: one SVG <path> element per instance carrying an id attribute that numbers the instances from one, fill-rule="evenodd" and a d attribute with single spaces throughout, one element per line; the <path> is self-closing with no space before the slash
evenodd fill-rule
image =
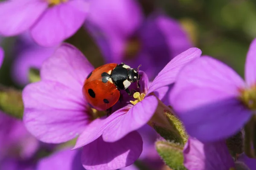
<path id="1" fill-rule="evenodd" d="M 82 97 L 81 89 L 93 66 L 73 45 L 63 43 L 42 65 L 42 80 L 59 82 L 76 91 Z"/>

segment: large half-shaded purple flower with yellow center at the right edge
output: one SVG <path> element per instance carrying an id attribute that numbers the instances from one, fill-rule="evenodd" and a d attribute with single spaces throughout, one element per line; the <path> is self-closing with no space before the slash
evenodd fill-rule
<path id="1" fill-rule="evenodd" d="M 230 67 L 211 57 L 186 65 L 170 96 L 189 135 L 207 142 L 238 132 L 256 108 L 256 40 L 247 54 L 245 82 Z"/>

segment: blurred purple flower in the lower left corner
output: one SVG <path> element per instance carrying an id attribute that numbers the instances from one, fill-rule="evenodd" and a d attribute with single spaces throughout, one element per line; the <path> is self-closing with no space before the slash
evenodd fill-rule
<path id="1" fill-rule="evenodd" d="M 40 142 L 28 133 L 23 122 L 0 113 L 0 169 L 33 170 L 31 161 Z"/>

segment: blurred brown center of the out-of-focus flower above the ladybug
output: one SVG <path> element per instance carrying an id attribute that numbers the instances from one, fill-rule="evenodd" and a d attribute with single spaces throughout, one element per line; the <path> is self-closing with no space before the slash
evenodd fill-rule
<path id="1" fill-rule="evenodd" d="M 137 37 L 133 37 L 126 43 L 124 56 L 125 59 L 134 59 L 140 51 L 140 41 Z"/>

